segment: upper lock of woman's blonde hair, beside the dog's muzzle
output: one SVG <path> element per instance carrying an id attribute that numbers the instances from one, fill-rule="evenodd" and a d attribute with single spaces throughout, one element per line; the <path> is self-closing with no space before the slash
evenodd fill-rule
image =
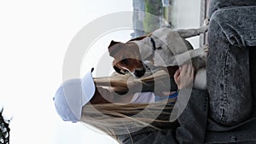
<path id="1" fill-rule="evenodd" d="M 114 92 L 123 94 L 129 90 L 132 92 L 141 92 L 142 86 L 148 87 L 152 91 L 163 91 L 170 89 L 170 76 L 164 70 L 153 73 L 146 73 L 142 78 L 134 78 L 131 74 L 113 73 L 111 77 L 94 78 L 97 86 L 112 89 Z"/>

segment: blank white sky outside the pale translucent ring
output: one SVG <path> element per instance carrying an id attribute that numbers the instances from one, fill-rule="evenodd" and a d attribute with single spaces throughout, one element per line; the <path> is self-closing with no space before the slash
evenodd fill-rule
<path id="1" fill-rule="evenodd" d="M 74 35 L 104 14 L 131 10 L 131 2 L 0 1 L 0 103 L 12 117 L 11 144 L 115 143 L 83 124 L 63 122 L 52 98 Z"/>

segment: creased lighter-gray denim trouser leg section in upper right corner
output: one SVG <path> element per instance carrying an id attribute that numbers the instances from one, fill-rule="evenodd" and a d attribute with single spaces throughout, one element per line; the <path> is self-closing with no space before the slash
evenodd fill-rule
<path id="1" fill-rule="evenodd" d="M 256 6 L 219 9 L 216 13 L 212 19 L 230 44 L 238 47 L 256 45 Z"/>

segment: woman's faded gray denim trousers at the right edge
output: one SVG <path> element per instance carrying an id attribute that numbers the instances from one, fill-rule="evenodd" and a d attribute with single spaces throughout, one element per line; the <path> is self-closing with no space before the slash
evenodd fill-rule
<path id="1" fill-rule="evenodd" d="M 207 89 L 209 115 L 218 124 L 241 123 L 252 112 L 249 47 L 256 46 L 255 5 L 255 0 L 210 1 Z"/>

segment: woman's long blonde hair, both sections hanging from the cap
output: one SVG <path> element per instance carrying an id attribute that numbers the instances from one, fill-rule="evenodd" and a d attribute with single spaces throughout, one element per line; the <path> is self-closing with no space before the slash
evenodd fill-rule
<path id="1" fill-rule="evenodd" d="M 132 78 L 131 75 L 113 75 L 109 78 L 95 78 L 97 86 L 113 89 L 115 92 L 124 92 L 127 89 L 137 88 L 138 84 L 167 83 L 169 75 L 165 71 L 158 71 L 146 75 L 143 78 Z M 166 87 L 170 85 L 164 84 Z M 160 86 L 162 88 L 162 86 Z M 133 91 L 137 92 L 138 89 Z M 141 89 L 140 89 L 141 90 Z M 154 123 L 169 122 L 172 107 L 166 107 L 167 101 L 159 101 L 147 104 L 86 104 L 82 110 L 81 122 L 90 124 L 99 130 L 113 136 L 130 134 L 145 127 L 160 129 Z M 163 112 L 164 110 L 164 112 Z M 166 111 L 167 110 L 167 111 Z M 160 118 L 161 115 L 161 118 Z"/>

